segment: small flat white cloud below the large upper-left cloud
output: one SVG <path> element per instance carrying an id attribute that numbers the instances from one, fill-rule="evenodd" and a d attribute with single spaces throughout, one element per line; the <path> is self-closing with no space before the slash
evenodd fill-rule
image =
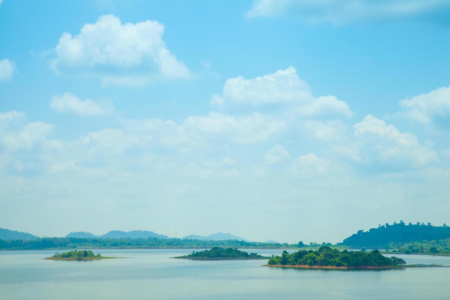
<path id="1" fill-rule="evenodd" d="M 90 99 L 83 101 L 67 92 L 61 96 L 53 96 L 50 102 L 50 108 L 58 112 L 73 112 L 80 116 L 104 115 L 114 111 L 112 103 L 98 104 Z"/>

